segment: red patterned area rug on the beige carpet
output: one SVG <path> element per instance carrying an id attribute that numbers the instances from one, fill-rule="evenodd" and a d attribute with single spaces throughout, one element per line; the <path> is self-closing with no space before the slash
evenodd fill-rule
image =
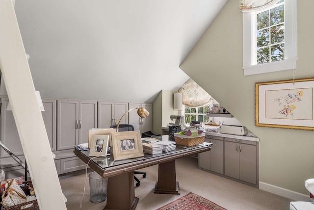
<path id="1" fill-rule="evenodd" d="M 157 210 L 226 210 L 192 192 Z"/>

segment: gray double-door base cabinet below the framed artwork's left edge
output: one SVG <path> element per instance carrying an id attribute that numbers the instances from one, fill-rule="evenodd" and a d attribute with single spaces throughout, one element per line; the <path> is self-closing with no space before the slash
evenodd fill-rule
<path id="1" fill-rule="evenodd" d="M 225 175 L 257 184 L 256 142 L 225 139 Z"/>

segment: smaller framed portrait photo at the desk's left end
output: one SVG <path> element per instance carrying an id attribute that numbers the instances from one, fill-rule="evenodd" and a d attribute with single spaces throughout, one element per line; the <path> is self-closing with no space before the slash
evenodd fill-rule
<path id="1" fill-rule="evenodd" d="M 89 156 L 106 156 L 109 135 L 93 135 Z"/>

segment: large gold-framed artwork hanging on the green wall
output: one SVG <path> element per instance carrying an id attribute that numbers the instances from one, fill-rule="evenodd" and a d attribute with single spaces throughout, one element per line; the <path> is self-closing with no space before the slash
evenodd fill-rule
<path id="1" fill-rule="evenodd" d="M 255 125 L 314 130 L 314 78 L 257 82 Z"/>

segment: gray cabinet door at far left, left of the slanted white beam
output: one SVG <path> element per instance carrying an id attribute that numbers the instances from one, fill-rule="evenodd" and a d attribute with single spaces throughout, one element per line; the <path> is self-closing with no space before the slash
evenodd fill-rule
<path id="1" fill-rule="evenodd" d="M 15 155 L 23 155 L 20 136 L 16 128 L 13 112 L 5 110 L 9 103 L 8 98 L 1 98 L 1 142 Z M 1 157 L 10 157 L 1 148 Z"/>

